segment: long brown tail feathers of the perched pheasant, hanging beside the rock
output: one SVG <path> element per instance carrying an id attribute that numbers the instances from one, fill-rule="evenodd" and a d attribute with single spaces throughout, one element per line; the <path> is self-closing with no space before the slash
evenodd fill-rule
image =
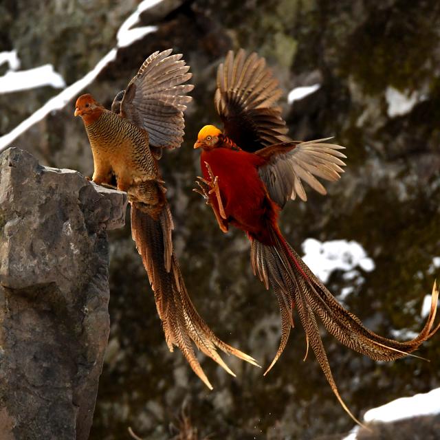
<path id="1" fill-rule="evenodd" d="M 173 220 L 167 204 L 158 219 L 154 219 L 148 212 L 142 210 L 142 203 L 132 203 L 131 232 L 153 288 L 166 344 L 170 351 L 173 351 L 174 346 L 178 347 L 192 370 L 208 388 L 212 389 L 208 377 L 197 360 L 192 342 L 232 376 L 235 374 L 225 364 L 217 349 L 250 364 L 256 366 L 259 364 L 250 355 L 217 338 L 197 313 L 186 290 L 184 278 L 173 251 L 172 230 Z"/>

